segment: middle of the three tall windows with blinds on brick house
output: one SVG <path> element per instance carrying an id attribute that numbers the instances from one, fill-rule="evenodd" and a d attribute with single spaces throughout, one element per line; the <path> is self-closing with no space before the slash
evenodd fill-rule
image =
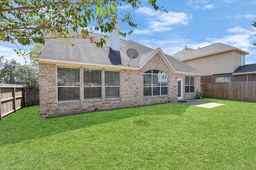
<path id="1" fill-rule="evenodd" d="M 101 70 L 84 68 L 84 100 L 101 99 Z"/>

